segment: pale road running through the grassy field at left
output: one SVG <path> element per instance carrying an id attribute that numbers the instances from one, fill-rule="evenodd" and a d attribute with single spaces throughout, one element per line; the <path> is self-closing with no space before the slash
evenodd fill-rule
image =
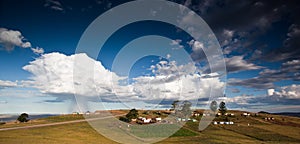
<path id="1" fill-rule="evenodd" d="M 99 117 L 99 118 L 82 119 L 82 120 L 65 121 L 65 122 L 55 122 L 55 123 L 48 123 L 48 124 L 37 124 L 37 125 L 22 126 L 22 127 L 2 128 L 2 129 L 0 129 L 0 131 L 29 129 L 29 128 L 38 128 L 38 127 L 47 127 L 47 126 L 71 124 L 71 123 L 80 123 L 80 122 L 95 121 L 95 120 L 100 120 L 100 119 L 107 119 L 107 118 L 123 116 L 123 115 L 125 115 L 125 114 L 114 115 L 114 116 L 105 116 L 105 117 Z"/>

